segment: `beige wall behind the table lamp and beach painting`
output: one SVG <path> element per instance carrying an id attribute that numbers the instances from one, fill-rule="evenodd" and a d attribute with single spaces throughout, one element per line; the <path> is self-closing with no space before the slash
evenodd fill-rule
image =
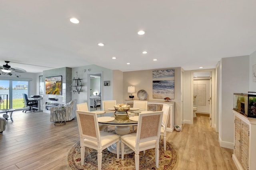
<path id="1" fill-rule="evenodd" d="M 174 69 L 174 124 L 181 125 L 182 118 L 180 117 L 180 100 L 181 100 L 181 68 L 161 68 L 158 70 L 166 70 L 166 69 Z M 164 99 L 155 99 L 152 97 L 152 71 L 153 70 L 141 70 L 141 71 L 131 71 L 131 72 L 123 72 L 123 96 L 124 100 L 129 99 L 129 94 L 127 92 L 128 86 L 135 86 L 134 100 L 139 100 L 137 97 L 137 92 L 139 90 L 145 90 L 148 93 L 148 97 L 146 100 L 151 101 L 164 101 Z M 114 77 L 114 76 L 113 76 Z M 167 96 L 166 96 L 167 97 Z M 123 101 L 124 102 L 124 101 Z"/>

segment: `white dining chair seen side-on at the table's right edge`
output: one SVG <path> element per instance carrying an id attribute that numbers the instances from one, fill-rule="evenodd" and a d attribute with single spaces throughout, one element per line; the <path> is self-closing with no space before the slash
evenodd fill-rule
<path id="1" fill-rule="evenodd" d="M 163 136 L 164 151 L 166 151 L 166 129 L 167 129 L 167 121 L 170 115 L 170 105 L 163 104 L 162 111 L 163 111 L 163 120 L 162 120 L 160 136 Z"/>

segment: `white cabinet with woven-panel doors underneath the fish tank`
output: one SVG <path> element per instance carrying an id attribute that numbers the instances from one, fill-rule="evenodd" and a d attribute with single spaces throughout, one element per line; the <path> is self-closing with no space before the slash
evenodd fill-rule
<path id="1" fill-rule="evenodd" d="M 234 111 L 234 154 L 238 170 L 256 168 L 256 118 L 248 118 Z"/>

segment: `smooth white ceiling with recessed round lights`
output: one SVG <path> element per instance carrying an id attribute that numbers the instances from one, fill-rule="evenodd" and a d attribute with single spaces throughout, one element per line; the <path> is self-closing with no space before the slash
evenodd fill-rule
<path id="1" fill-rule="evenodd" d="M 0 0 L 0 65 L 215 68 L 256 50 L 255 9 L 256 0 Z"/>

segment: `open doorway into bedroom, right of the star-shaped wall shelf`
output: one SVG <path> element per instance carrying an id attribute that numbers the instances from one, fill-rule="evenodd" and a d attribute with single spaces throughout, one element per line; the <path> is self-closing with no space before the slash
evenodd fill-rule
<path id="1" fill-rule="evenodd" d="M 89 105 L 90 111 L 94 110 L 101 110 L 101 101 L 102 101 L 102 74 L 101 73 L 95 73 L 95 74 L 89 74 L 88 76 L 90 78 L 90 81 L 88 83 L 90 84 L 89 87 Z"/>

